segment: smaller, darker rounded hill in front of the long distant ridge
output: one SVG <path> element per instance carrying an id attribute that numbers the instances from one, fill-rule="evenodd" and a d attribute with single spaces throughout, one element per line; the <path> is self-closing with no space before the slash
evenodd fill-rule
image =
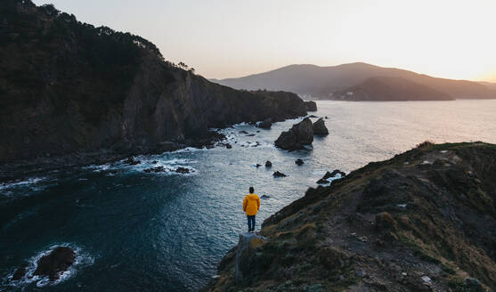
<path id="1" fill-rule="evenodd" d="M 341 101 L 451 101 L 447 93 L 398 77 L 371 77 L 362 84 L 334 93 Z"/>

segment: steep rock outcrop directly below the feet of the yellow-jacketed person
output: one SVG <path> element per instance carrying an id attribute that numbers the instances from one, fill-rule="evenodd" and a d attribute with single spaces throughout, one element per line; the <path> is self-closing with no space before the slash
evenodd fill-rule
<path id="1" fill-rule="evenodd" d="M 256 233 L 241 233 L 236 248 L 235 279 L 237 283 L 243 281 L 243 274 L 248 274 L 259 259 L 256 258 L 256 249 L 262 247 L 265 239 Z"/>

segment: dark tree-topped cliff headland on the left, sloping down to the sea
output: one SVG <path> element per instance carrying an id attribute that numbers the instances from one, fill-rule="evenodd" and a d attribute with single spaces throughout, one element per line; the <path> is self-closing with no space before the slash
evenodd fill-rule
<path id="1" fill-rule="evenodd" d="M 212 127 L 305 114 L 296 94 L 212 84 L 142 37 L 53 5 L 0 7 L 0 162 L 167 150 L 207 142 Z"/>

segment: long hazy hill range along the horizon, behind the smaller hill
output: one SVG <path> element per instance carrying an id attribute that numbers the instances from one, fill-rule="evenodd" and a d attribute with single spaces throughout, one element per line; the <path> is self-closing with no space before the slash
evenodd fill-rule
<path id="1" fill-rule="evenodd" d="M 289 65 L 280 69 L 240 78 L 212 80 L 236 89 L 284 90 L 327 99 L 332 93 L 360 85 L 370 77 L 400 77 L 456 99 L 496 98 L 496 89 L 467 81 L 429 77 L 403 69 L 383 68 L 356 62 L 338 66 Z"/>

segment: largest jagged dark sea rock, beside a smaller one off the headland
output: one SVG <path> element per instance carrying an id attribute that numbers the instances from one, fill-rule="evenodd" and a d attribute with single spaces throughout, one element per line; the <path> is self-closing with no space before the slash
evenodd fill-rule
<path id="1" fill-rule="evenodd" d="M 313 127 L 310 118 L 305 118 L 296 125 L 293 125 L 287 132 L 282 132 L 275 141 L 275 145 L 282 150 L 301 150 L 304 145 L 312 144 Z"/>

